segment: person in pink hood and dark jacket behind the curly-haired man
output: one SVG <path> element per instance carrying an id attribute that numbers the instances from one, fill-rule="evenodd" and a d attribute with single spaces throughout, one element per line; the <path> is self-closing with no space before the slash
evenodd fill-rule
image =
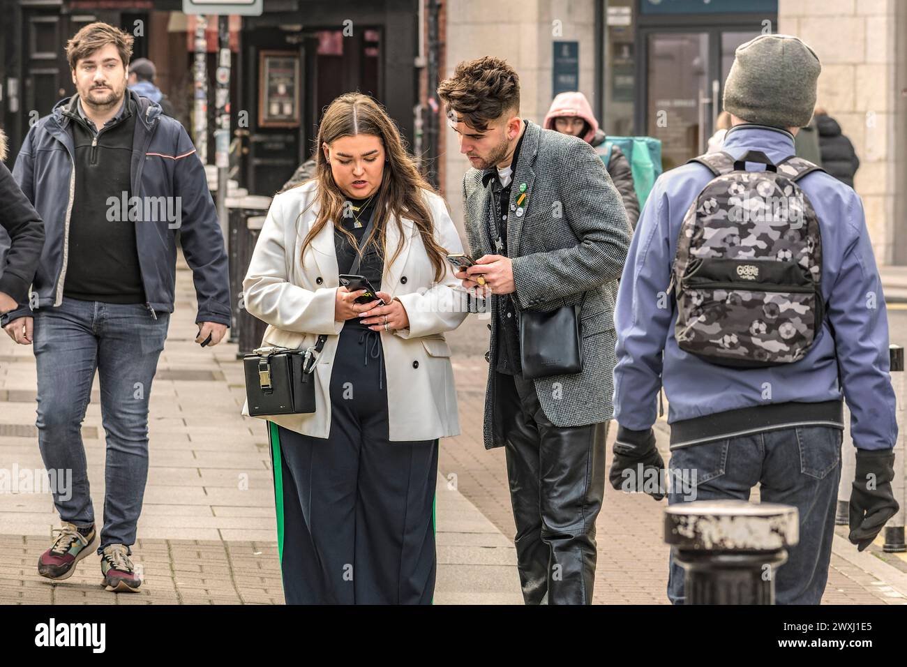
<path id="1" fill-rule="evenodd" d="M 599 152 L 611 181 L 614 181 L 614 186 L 620 192 L 630 227 L 635 230 L 636 221 L 639 220 L 639 200 L 633 187 L 633 172 L 630 171 L 629 161 L 616 145 L 611 146 L 610 154 L 605 154 L 608 150 L 605 132 L 599 128 L 599 122 L 592 115 L 592 107 L 586 96 L 578 91 L 560 93 L 551 102 L 542 125 L 548 130 L 580 137 Z"/>

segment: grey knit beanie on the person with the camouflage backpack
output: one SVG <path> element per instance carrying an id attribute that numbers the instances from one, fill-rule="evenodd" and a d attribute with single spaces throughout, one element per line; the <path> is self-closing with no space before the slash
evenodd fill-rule
<path id="1" fill-rule="evenodd" d="M 734 55 L 725 82 L 725 111 L 770 127 L 809 124 L 822 72 L 813 49 L 789 34 L 762 34 L 740 44 Z"/>

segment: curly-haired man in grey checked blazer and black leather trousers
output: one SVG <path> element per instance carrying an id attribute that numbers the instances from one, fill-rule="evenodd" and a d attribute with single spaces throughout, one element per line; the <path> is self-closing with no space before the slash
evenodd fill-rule
<path id="1" fill-rule="evenodd" d="M 492 57 L 461 63 L 438 93 L 473 165 L 463 177 L 463 211 L 476 265 L 457 275 L 491 302 L 484 442 L 505 447 L 523 598 L 588 604 L 627 214 L 588 143 L 520 118 L 510 65 Z M 580 299 L 582 371 L 523 378 L 521 313 Z"/>

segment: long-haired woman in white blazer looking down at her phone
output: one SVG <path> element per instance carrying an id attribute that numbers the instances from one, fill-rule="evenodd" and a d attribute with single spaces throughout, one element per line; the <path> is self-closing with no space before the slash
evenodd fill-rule
<path id="1" fill-rule="evenodd" d="M 274 198 L 243 281 L 246 309 L 269 325 L 262 346 L 327 335 L 315 412 L 262 417 L 284 593 L 431 603 L 438 438 L 460 431 L 444 332 L 466 316 L 445 254 L 462 244 L 371 98 L 331 103 L 318 145 L 315 178 Z M 387 305 L 357 304 L 362 290 L 338 280 L 350 272 Z"/>

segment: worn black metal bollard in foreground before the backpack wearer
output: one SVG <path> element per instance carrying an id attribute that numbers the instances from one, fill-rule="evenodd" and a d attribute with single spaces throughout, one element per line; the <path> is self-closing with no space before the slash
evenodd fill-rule
<path id="1" fill-rule="evenodd" d="M 698 500 L 665 510 L 687 604 L 774 604 L 775 571 L 799 541 L 796 507 Z"/>

